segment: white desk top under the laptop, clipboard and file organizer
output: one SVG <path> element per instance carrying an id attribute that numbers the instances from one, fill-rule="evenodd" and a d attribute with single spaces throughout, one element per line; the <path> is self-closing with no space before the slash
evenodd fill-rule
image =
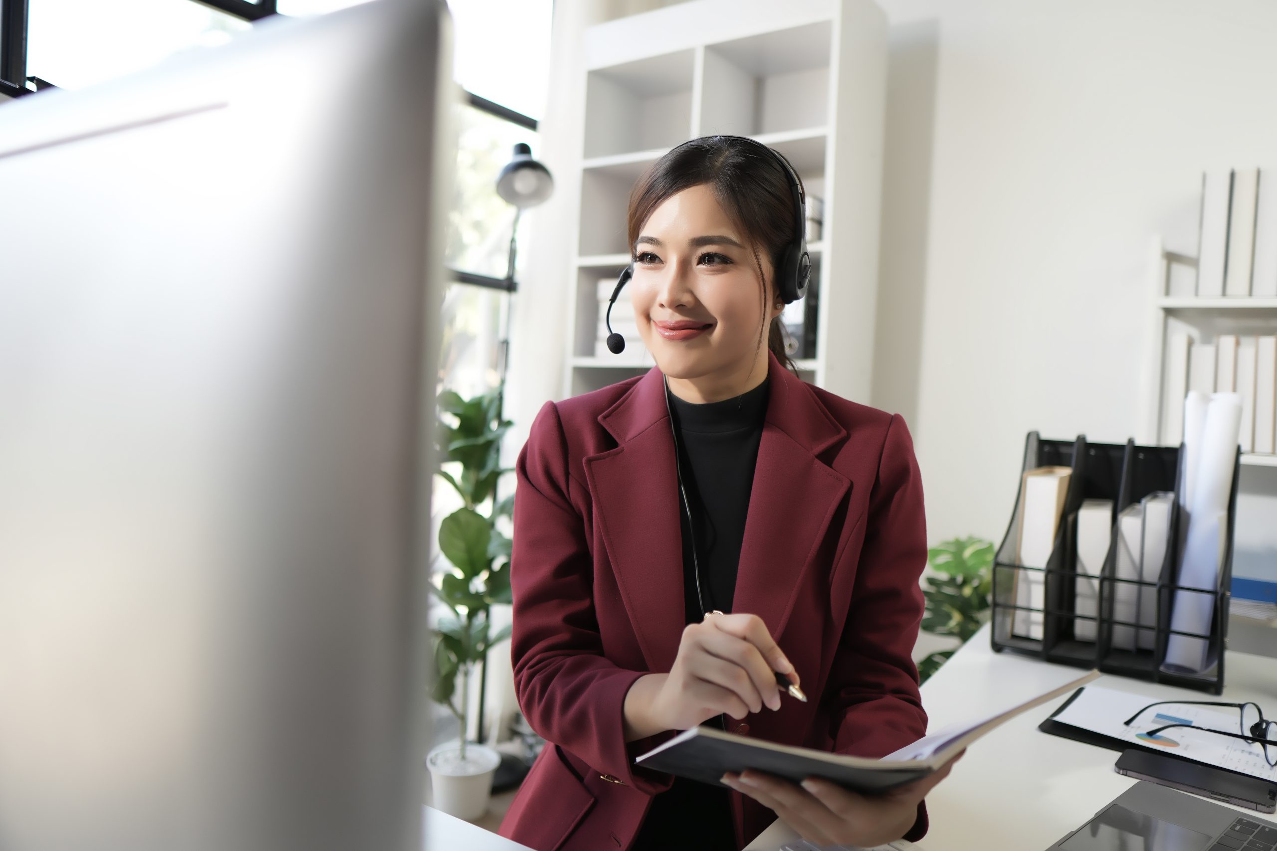
<path id="1" fill-rule="evenodd" d="M 922 685 L 928 730 L 994 712 L 1083 674 L 1009 651 L 995 653 L 988 630 L 986 624 Z M 1149 702 L 1254 700 L 1277 713 L 1277 660 L 1226 652 L 1220 697 L 1122 676 L 1101 676 L 1092 684 L 1147 694 Z M 1038 732 L 1037 725 L 1066 699 L 1029 709 L 967 749 L 949 777 L 927 795 L 931 827 L 921 848 L 1042 851 L 1137 782 L 1114 771 L 1119 751 Z M 1255 815 L 1241 806 L 1221 806 Z M 793 829 L 776 820 L 748 851 L 775 851 L 794 837 Z"/>

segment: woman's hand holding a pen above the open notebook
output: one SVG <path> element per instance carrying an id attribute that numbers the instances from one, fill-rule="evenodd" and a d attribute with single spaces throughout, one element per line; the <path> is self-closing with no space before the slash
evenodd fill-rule
<path id="1" fill-rule="evenodd" d="M 690 730 L 720 712 L 741 720 L 764 706 L 779 709 L 773 671 L 798 684 L 761 618 L 709 614 L 683 629 L 674 666 L 651 695 L 649 718 L 661 730 Z"/>

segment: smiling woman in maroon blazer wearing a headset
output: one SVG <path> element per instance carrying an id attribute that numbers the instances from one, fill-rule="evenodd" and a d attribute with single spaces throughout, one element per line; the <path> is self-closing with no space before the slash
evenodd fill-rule
<path id="1" fill-rule="evenodd" d="M 917 840 L 953 766 L 867 797 L 632 764 L 700 723 L 861 757 L 926 734 L 921 477 L 899 416 L 790 371 L 775 269 L 794 181 L 738 137 L 661 157 L 628 212 L 656 366 L 547 402 L 518 455 L 511 652 L 547 745 L 501 833 L 538 851 L 741 848 L 776 817 L 817 845 Z"/>

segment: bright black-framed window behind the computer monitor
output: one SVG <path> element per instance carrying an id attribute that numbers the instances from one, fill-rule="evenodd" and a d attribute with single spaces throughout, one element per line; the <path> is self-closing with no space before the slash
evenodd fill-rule
<path id="1" fill-rule="evenodd" d="M 0 100 L 28 80 L 82 88 L 142 70 L 185 50 L 213 47 L 272 14 L 315 15 L 365 0 L 0 0 Z M 501 376 L 515 209 L 495 191 L 515 143 L 538 152 L 536 120 L 549 82 L 553 0 L 448 0 L 457 167 L 446 263 L 439 380 L 464 396 Z M 26 10 L 24 17 L 20 10 Z M 26 34 L 26 51 L 20 50 Z M 8 74 L 8 75 L 6 75 Z M 520 236 L 525 228 L 520 227 Z M 526 249 L 526 242 L 524 246 Z M 527 251 L 521 251 L 526 258 Z M 515 270 L 517 279 L 517 272 Z"/>

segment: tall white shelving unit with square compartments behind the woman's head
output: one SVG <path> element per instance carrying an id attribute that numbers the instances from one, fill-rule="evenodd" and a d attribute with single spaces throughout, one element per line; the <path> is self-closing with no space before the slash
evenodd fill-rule
<path id="1" fill-rule="evenodd" d="M 808 195 L 824 200 L 822 239 L 808 245 L 816 356 L 797 365 L 806 380 L 867 401 L 886 91 L 881 9 L 871 0 L 692 0 L 591 27 L 585 47 L 564 396 L 653 366 L 646 351 L 596 356 L 598 282 L 616 281 L 630 262 L 626 209 L 638 176 L 673 145 L 724 133 L 783 153 Z"/>

